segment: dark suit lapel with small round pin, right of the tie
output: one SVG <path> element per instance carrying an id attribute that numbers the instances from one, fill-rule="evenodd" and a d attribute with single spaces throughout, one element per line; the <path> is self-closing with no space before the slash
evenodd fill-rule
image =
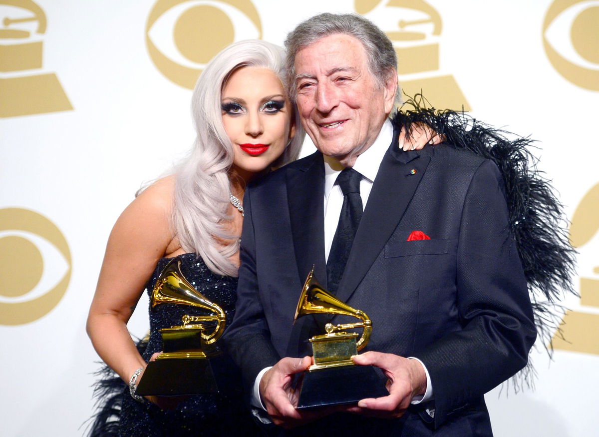
<path id="1" fill-rule="evenodd" d="M 356 290 L 391 237 L 431 161 L 428 153 L 400 150 L 397 147 L 398 132 L 396 129 L 380 164 L 353 240 L 337 292 L 343 302 L 347 302 Z"/>

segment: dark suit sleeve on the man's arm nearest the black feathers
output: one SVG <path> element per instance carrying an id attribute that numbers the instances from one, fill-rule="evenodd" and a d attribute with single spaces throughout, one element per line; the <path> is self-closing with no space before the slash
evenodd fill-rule
<path id="1" fill-rule="evenodd" d="M 431 376 L 437 426 L 522 369 L 536 338 L 502 189 L 497 167 L 484 161 L 470 182 L 459 225 L 456 305 L 462 330 L 416 355 Z"/>

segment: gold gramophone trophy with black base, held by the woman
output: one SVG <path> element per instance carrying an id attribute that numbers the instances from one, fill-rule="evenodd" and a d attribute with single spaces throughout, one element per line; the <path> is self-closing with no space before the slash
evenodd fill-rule
<path id="1" fill-rule="evenodd" d="M 181 261 L 169 261 L 150 296 L 150 308 L 173 303 L 202 308 L 214 314 L 184 315 L 180 326 L 163 328 L 162 354 L 150 361 L 137 386 L 140 395 L 179 396 L 218 391 L 211 362 L 222 353 L 216 341 L 225 330 L 225 312 L 202 296 L 181 273 Z"/>

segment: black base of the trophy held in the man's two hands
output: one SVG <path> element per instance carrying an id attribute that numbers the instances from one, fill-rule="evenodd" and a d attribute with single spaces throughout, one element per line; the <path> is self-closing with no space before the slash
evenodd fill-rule
<path id="1" fill-rule="evenodd" d="M 297 409 L 349 405 L 368 397 L 388 396 L 379 367 L 341 366 L 305 372 Z"/>

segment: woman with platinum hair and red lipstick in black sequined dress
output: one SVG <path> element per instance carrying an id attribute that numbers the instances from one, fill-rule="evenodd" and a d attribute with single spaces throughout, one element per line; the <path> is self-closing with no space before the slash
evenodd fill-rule
<path id="1" fill-rule="evenodd" d="M 254 432 L 232 362 L 223 365 L 237 390 L 177 398 L 135 393 L 147 362 L 162 349 L 159 330 L 181 325 L 183 315 L 205 315 L 204 309 L 155 306 L 147 344 L 135 345 L 126 324 L 143 291 L 152 293 L 173 259 L 184 278 L 223 309 L 226 324 L 232 320 L 244 190 L 296 159 L 304 140 L 285 92 L 284 65 L 283 49 L 260 40 L 231 44 L 216 55 L 193 91 L 192 149 L 170 175 L 139 192 L 114 225 L 87 318 L 87 333 L 108 366 L 96 387 L 103 406 L 91 435 Z"/>

